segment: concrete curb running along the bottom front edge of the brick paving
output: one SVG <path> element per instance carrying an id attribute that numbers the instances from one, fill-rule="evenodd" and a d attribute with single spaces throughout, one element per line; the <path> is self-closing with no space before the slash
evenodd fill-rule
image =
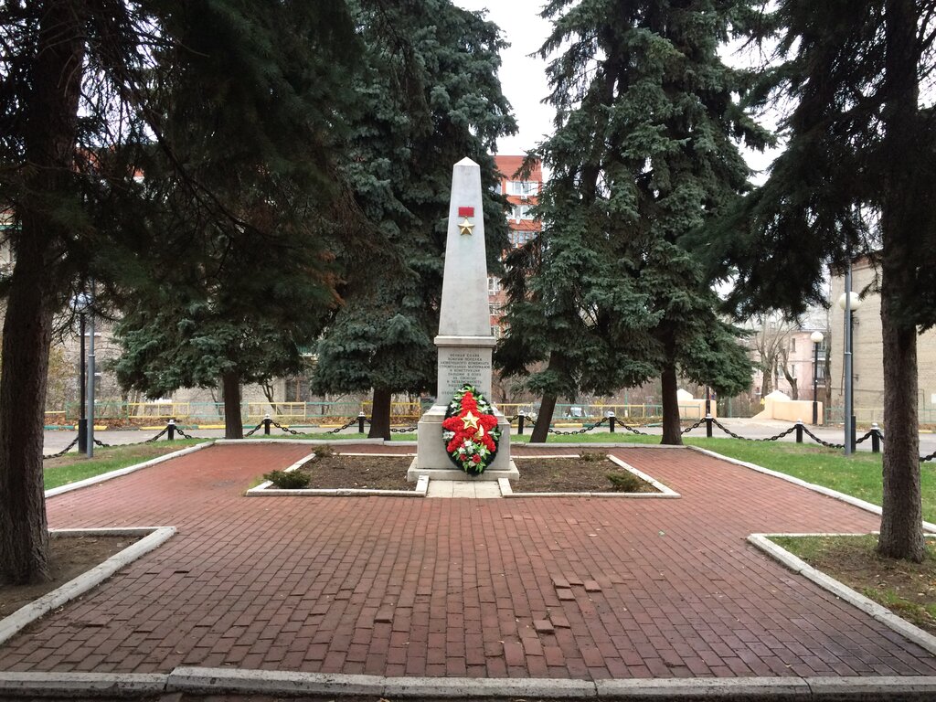
<path id="1" fill-rule="evenodd" d="M 561 680 L 382 676 L 180 666 L 168 674 L 0 672 L 12 696 L 362 695 L 383 699 L 932 699 L 936 677 Z"/>

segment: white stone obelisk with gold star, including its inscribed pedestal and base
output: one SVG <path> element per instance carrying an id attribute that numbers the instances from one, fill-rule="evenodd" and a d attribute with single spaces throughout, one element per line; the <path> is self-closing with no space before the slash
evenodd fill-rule
<path id="1" fill-rule="evenodd" d="M 488 260 L 484 241 L 481 203 L 481 168 L 463 158 L 452 168 L 452 194 L 448 203 L 446 266 L 439 309 L 439 335 L 435 337 L 439 359 L 435 404 L 419 420 L 417 459 L 408 480 L 429 475 L 436 480 L 496 480 L 517 478 L 510 460 L 510 423 L 496 407 L 501 439 L 497 456 L 481 475 L 467 475 L 446 454 L 442 421 L 456 390 L 471 383 L 493 406 L 490 394 L 491 353 L 488 306 Z"/>

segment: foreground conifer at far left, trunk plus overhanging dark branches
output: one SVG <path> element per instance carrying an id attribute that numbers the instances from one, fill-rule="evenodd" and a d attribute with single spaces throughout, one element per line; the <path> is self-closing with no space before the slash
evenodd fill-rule
<path id="1" fill-rule="evenodd" d="M 165 203 L 152 201 L 156 212 L 141 204 L 143 185 L 135 176 L 154 135 L 168 154 L 172 144 L 164 133 L 159 95 L 151 86 L 169 78 L 184 80 L 171 63 L 157 65 L 154 56 L 179 46 L 182 30 L 171 21 L 196 5 L 216 9 L 212 31 L 257 50 L 251 56 L 256 66 L 252 75 L 268 75 L 269 66 L 262 64 L 282 47 L 283 39 L 262 23 L 264 8 L 256 3 L 202 0 L 141 6 L 122 0 L 29 0 L 0 5 L 0 202 L 10 208 L 16 225 L 8 230 L 13 269 L 0 282 L 7 300 L 0 373 L 2 579 L 48 577 L 42 426 L 52 315 L 65 308 L 76 281 L 93 278 L 104 289 L 115 289 L 112 261 L 132 257 L 121 252 L 153 253 L 148 244 L 154 243 L 155 234 L 147 226 L 164 221 L 158 211 Z M 344 6 L 308 5 L 307 12 L 318 14 L 321 41 L 316 46 L 347 46 L 351 25 Z M 251 11 L 268 30 L 265 47 L 250 40 L 244 17 Z M 336 74 L 337 55 L 322 57 Z M 242 79 L 232 76 L 227 100 L 215 107 L 249 110 L 257 125 L 270 125 L 279 103 L 265 91 L 274 86 Z M 321 110 L 315 114 L 328 110 L 329 84 L 323 82 L 321 88 Z M 261 131 L 266 133 L 275 133 L 275 128 Z M 250 130 L 241 133 L 246 144 L 232 143 L 231 148 L 250 145 L 251 135 Z M 192 197 L 213 199 L 212 190 L 198 183 L 195 174 L 177 162 L 173 167 Z"/>

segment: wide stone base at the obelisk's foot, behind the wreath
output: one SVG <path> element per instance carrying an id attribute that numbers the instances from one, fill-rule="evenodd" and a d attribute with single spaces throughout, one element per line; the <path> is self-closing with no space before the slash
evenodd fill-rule
<path id="1" fill-rule="evenodd" d="M 448 458 L 446 444 L 442 439 L 442 421 L 446 418 L 446 405 L 436 404 L 419 420 L 417 430 L 417 457 L 406 472 L 409 482 L 416 482 L 420 475 L 429 475 L 430 480 L 497 480 L 505 477 L 516 480 L 520 474 L 517 465 L 510 460 L 510 422 L 494 410 L 501 430 L 497 445 L 497 456 L 481 475 L 468 475 L 458 470 Z"/>

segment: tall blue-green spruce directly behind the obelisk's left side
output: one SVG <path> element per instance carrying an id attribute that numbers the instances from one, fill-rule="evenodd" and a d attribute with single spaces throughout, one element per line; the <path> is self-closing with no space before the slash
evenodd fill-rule
<path id="1" fill-rule="evenodd" d="M 367 47 L 356 89 L 366 107 L 343 171 L 379 255 L 368 252 L 348 272 L 344 306 L 318 347 L 314 388 L 373 388 L 370 435 L 388 439 L 392 395 L 435 383 L 452 165 L 466 155 L 481 165 L 495 267 L 507 227 L 489 152 L 516 127 L 496 77 L 505 44 L 494 24 L 450 0 L 361 0 L 356 20 Z"/>

